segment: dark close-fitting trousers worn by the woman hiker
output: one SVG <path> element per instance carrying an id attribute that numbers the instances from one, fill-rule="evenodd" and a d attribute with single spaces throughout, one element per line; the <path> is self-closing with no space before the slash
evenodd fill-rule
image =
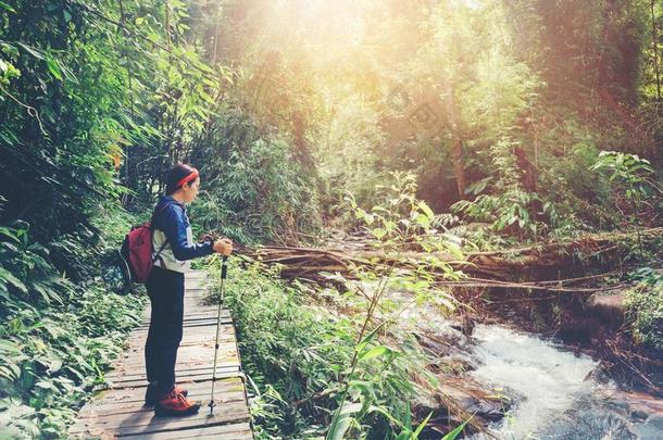
<path id="1" fill-rule="evenodd" d="M 159 381 L 159 390 L 175 386 L 175 362 L 182 341 L 184 319 L 184 274 L 153 267 L 146 282 L 152 314 L 145 344 L 148 381 Z"/>

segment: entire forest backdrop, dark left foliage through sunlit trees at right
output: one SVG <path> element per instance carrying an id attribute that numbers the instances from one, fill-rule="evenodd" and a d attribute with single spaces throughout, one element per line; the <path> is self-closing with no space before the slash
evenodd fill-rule
<path id="1" fill-rule="evenodd" d="M 24 187 L 3 215 L 38 239 L 79 231 L 117 181 L 151 202 L 177 161 L 209 180 L 205 226 L 241 241 L 342 219 L 348 191 L 376 203 L 395 169 L 436 210 L 565 235 L 621 226 L 620 191 L 587 173 L 601 150 L 661 160 L 647 0 L 3 10 L 2 166 Z"/>

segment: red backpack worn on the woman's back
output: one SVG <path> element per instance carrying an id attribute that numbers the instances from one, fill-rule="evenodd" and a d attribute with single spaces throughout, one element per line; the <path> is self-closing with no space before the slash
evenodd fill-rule
<path id="1" fill-rule="evenodd" d="M 125 273 L 125 276 L 128 276 L 134 282 L 145 284 L 148 280 L 154 262 L 168 242 L 167 240 L 164 241 L 161 249 L 154 253 L 154 248 L 152 246 L 152 223 L 157 214 L 168 205 L 171 205 L 171 203 L 155 212 L 149 222 L 139 226 L 134 226 L 124 238 L 124 242 L 120 249 L 120 254 L 122 260 L 124 260 L 125 266 L 123 272 L 128 272 Z"/>

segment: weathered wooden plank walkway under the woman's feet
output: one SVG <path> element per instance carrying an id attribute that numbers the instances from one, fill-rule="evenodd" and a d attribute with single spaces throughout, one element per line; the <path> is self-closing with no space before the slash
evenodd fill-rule
<path id="1" fill-rule="evenodd" d="M 208 278 L 191 271 L 185 284 L 184 338 L 177 353 L 177 384 L 189 390 L 189 399 L 201 402 L 200 412 L 188 417 L 155 417 L 153 406 L 145 406 L 143 347 L 150 307 L 143 323 L 128 341 L 107 376 L 109 388 L 90 400 L 70 429 L 75 439 L 197 439 L 247 440 L 253 438 L 243 374 L 233 320 L 222 311 L 214 413 L 207 406 L 212 389 L 212 364 L 216 332 L 216 305 L 207 305 L 203 296 Z"/>

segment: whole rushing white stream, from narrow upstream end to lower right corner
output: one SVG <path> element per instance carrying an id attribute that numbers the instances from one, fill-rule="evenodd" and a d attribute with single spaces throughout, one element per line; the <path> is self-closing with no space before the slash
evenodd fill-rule
<path id="1" fill-rule="evenodd" d="M 663 440 L 663 399 L 620 389 L 609 378 L 599 380 L 599 361 L 502 325 L 477 324 L 467 337 L 445 317 L 440 304 L 412 304 L 396 290 L 389 299 L 410 304 L 401 314 L 408 327 L 439 336 L 451 348 L 445 356 L 471 366 L 467 381 L 508 399 L 506 415 L 488 425 L 489 433 L 470 439 Z M 466 411 L 481 412 L 481 406 Z"/>

